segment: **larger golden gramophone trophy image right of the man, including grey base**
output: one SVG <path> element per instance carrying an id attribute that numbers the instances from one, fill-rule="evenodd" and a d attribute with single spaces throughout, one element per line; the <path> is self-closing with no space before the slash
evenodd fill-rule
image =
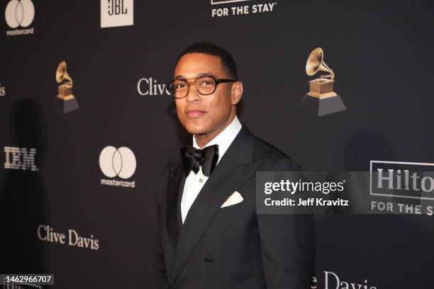
<path id="1" fill-rule="evenodd" d="M 317 72 L 328 72 L 318 79 L 309 81 L 309 92 L 301 100 L 301 109 L 309 115 L 323 116 L 338 111 L 345 111 L 345 105 L 340 96 L 333 91 L 335 74 L 325 64 L 324 52 L 321 47 L 315 48 L 306 62 L 306 74 L 311 77 Z"/>

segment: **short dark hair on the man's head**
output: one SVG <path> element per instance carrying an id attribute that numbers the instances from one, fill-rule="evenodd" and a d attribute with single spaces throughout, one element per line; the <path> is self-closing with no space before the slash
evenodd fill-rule
<path id="1" fill-rule="evenodd" d="M 232 55 L 228 50 L 212 43 L 194 43 L 187 47 L 177 58 L 177 63 L 186 54 L 189 53 L 202 53 L 205 55 L 213 55 L 220 57 L 223 70 L 232 77 L 233 80 L 238 80 L 237 66 L 235 65 L 235 60 L 233 60 Z"/>

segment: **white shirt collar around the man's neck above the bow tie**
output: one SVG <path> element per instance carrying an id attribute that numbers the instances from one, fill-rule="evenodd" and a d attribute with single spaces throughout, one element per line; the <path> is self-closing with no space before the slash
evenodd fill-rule
<path id="1" fill-rule="evenodd" d="M 222 132 L 220 132 L 216 137 L 214 137 L 210 142 L 208 142 L 204 147 L 209 147 L 211 145 L 218 145 L 218 162 L 220 162 L 223 154 L 228 150 L 230 144 L 233 142 L 235 137 L 240 132 L 243 125 L 241 125 L 240 120 L 238 120 L 237 115 L 233 118 L 232 123 L 228 125 Z M 193 135 L 193 147 L 200 149 L 197 145 L 196 138 Z M 204 148 L 202 147 L 202 149 Z"/>

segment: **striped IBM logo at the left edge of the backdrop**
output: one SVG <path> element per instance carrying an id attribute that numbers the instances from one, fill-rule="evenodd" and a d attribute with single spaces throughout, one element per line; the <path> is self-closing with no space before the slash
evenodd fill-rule
<path id="1" fill-rule="evenodd" d="M 6 154 L 5 169 L 22 169 L 25 171 L 39 171 L 35 166 L 36 149 L 26 147 L 4 147 Z"/>

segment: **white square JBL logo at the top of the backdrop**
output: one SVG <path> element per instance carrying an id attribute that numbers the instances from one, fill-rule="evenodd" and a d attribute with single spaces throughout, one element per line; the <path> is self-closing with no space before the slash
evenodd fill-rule
<path id="1" fill-rule="evenodd" d="M 133 24 L 133 0 L 101 0 L 101 28 Z"/>

